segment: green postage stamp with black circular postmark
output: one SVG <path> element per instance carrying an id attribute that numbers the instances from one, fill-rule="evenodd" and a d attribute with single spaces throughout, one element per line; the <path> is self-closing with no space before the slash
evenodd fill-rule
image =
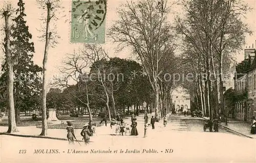
<path id="1" fill-rule="evenodd" d="M 73 0 L 71 15 L 71 42 L 105 43 L 106 0 Z"/>

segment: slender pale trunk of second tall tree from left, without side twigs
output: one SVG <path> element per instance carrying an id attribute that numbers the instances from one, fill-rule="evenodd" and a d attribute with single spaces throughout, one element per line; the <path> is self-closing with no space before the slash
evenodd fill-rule
<path id="1" fill-rule="evenodd" d="M 47 59 L 48 59 L 48 51 L 50 46 L 50 20 L 51 20 L 51 9 L 52 4 L 47 3 L 47 21 L 46 21 L 46 44 L 45 44 L 45 52 L 44 52 L 44 60 L 42 61 L 42 131 L 40 135 L 47 135 L 47 108 L 46 108 L 46 94 L 47 94 Z"/>

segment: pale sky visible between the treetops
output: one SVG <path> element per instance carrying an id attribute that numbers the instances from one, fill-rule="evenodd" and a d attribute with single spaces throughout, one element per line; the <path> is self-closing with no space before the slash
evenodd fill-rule
<path id="1" fill-rule="evenodd" d="M 136 1 L 136 0 L 132 0 Z M 14 7 L 18 0 L 11 0 Z M 118 15 L 116 13 L 117 9 L 123 4 L 125 1 L 121 0 L 108 0 L 107 4 L 107 11 L 106 11 L 106 32 L 114 23 L 115 20 L 118 19 Z M 246 37 L 246 45 L 245 46 L 252 46 L 252 43 L 255 47 L 255 39 L 256 39 L 256 0 L 247 0 L 245 1 L 248 5 L 252 8 L 252 11 L 247 13 L 245 22 L 248 23 L 250 29 L 254 32 L 252 36 Z M 42 14 L 44 14 L 42 9 L 39 9 L 35 0 L 24 0 L 25 3 L 25 13 L 27 14 L 25 20 L 27 20 L 27 25 L 29 26 L 29 31 L 33 36 L 33 42 L 35 44 L 35 53 L 34 53 L 34 63 L 42 66 L 42 59 L 44 57 L 44 46 L 45 42 L 40 41 L 38 36 L 41 35 L 37 29 L 41 29 L 41 20 L 39 19 Z M 55 48 L 49 49 L 49 57 L 48 57 L 48 73 L 49 77 L 51 78 L 53 74 L 59 73 L 59 66 L 61 66 L 61 62 L 63 59 L 66 58 L 67 53 L 73 53 L 74 49 L 77 49 L 82 44 L 79 43 L 70 43 L 70 23 L 69 21 L 66 22 L 67 19 L 71 17 L 71 1 L 62 0 L 61 1 L 61 8 L 59 14 L 59 20 L 57 21 L 57 33 L 61 37 L 59 43 L 56 45 Z M 3 0 L 0 0 L 0 7 L 4 4 Z M 182 11 L 178 6 L 174 8 L 173 14 L 169 15 L 169 19 L 172 20 L 177 14 L 182 14 Z M 65 16 L 66 15 L 66 16 Z M 4 24 L 4 19 L 0 19 L 1 25 Z M 2 32 L 3 33 L 3 32 Z M 3 41 L 3 36 L 1 38 Z M 115 47 L 117 45 L 112 43 L 111 39 L 106 36 L 105 43 L 103 47 L 109 52 L 110 57 L 119 57 L 119 58 L 126 58 L 131 59 L 131 50 L 125 49 L 121 52 L 116 53 Z M 182 46 L 182 45 L 181 45 Z M 3 51 L 0 52 L 0 60 L 3 59 Z M 237 61 L 240 62 L 244 59 L 243 50 L 237 56 Z"/>

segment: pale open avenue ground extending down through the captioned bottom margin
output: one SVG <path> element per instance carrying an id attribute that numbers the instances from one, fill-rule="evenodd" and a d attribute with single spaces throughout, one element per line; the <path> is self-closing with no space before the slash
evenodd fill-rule
<path id="1" fill-rule="evenodd" d="M 142 116 L 137 117 L 138 137 L 98 134 L 91 143 L 68 145 L 67 141 L 1 135 L 1 162 L 255 162 L 255 139 L 240 137 L 220 129 L 203 132 L 199 120 L 170 116 L 156 129 L 147 127 L 143 138 Z M 225 144 L 223 146 L 223 144 Z M 24 151 L 26 152 L 24 153 Z M 111 152 L 110 152 L 111 151 Z"/>

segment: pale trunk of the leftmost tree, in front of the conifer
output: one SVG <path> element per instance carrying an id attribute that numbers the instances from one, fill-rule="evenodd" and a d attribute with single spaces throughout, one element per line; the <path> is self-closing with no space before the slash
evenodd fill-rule
<path id="1" fill-rule="evenodd" d="M 17 132 L 17 126 L 15 122 L 15 108 L 14 108 L 14 97 L 13 97 L 13 61 L 10 52 L 10 11 L 4 11 L 5 17 L 5 53 L 8 65 L 8 133 Z"/>

